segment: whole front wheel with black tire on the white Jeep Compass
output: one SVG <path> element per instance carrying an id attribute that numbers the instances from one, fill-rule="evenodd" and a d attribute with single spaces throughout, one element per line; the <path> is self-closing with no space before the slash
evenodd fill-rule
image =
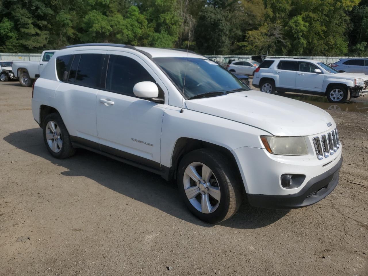
<path id="1" fill-rule="evenodd" d="M 239 178 L 219 152 L 198 149 L 187 153 L 178 167 L 178 188 L 188 209 L 214 224 L 233 216 L 241 204 Z"/>

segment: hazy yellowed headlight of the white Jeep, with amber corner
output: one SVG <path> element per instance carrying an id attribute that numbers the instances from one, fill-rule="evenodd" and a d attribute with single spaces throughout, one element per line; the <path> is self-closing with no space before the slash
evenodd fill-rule
<path id="1" fill-rule="evenodd" d="M 277 155 L 307 155 L 308 148 L 305 138 L 261 136 L 263 145 L 269 153 Z"/>

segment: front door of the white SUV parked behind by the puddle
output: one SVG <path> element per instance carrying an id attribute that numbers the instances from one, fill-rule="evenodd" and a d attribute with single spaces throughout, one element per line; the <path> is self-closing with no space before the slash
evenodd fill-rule
<path id="1" fill-rule="evenodd" d="M 299 61 L 299 70 L 296 75 L 296 89 L 321 92 L 325 75 L 315 73 L 319 69 L 312 63 Z"/>

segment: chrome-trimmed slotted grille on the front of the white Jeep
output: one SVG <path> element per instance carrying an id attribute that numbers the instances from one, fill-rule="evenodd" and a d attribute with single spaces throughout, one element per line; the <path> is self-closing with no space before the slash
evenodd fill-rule
<path id="1" fill-rule="evenodd" d="M 312 141 L 319 160 L 328 158 L 340 148 L 340 139 L 337 128 L 334 128 L 331 132 L 321 135 L 321 137 L 314 137 Z"/>

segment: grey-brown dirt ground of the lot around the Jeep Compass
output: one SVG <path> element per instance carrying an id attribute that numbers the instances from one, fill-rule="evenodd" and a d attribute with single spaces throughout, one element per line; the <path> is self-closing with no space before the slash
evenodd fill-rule
<path id="1" fill-rule="evenodd" d="M 209 225 L 155 174 L 84 150 L 52 158 L 31 90 L 0 83 L 1 276 L 368 275 L 368 112 L 330 111 L 344 162 L 327 198 L 243 204 Z"/>

